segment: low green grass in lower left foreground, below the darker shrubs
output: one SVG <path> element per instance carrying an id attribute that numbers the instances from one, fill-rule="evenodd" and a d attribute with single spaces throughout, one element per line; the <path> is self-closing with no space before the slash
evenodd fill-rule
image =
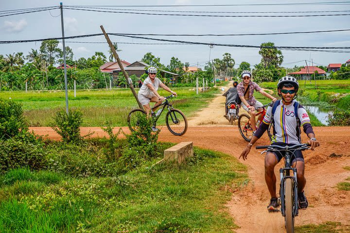
<path id="1" fill-rule="evenodd" d="M 225 204 L 247 182 L 246 167 L 194 153 L 181 166 L 152 166 L 157 158 L 119 177 L 11 170 L 0 176 L 0 232 L 231 232 Z"/>

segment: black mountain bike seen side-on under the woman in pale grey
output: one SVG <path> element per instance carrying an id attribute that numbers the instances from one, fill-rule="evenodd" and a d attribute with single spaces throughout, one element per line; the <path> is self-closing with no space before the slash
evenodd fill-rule
<path id="1" fill-rule="evenodd" d="M 186 133 L 187 131 L 187 118 L 185 114 L 183 114 L 180 110 L 173 108 L 173 105 L 169 102 L 170 99 L 174 98 L 174 95 L 170 95 L 165 97 L 165 100 L 158 106 L 153 107 L 152 111 L 162 106 L 158 111 L 152 115 L 154 119 L 154 124 L 156 125 L 156 122 L 160 116 L 160 114 L 163 112 L 163 110 L 166 108 L 168 110 L 166 116 L 165 116 L 165 123 L 168 128 L 168 130 L 173 133 L 176 136 L 181 136 Z M 139 117 L 138 115 L 146 115 L 146 112 L 143 109 L 134 109 L 132 110 L 128 117 L 127 117 L 127 124 L 129 126 L 130 131 L 135 131 L 135 128 L 139 125 Z"/>

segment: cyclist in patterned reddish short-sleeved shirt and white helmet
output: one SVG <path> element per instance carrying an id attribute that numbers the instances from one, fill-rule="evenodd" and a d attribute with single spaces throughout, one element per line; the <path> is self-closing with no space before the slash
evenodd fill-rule
<path id="1" fill-rule="evenodd" d="M 237 92 L 242 100 L 242 107 L 250 114 L 250 125 L 254 133 L 256 131 L 255 110 L 263 106 L 261 102 L 254 98 L 254 90 L 260 92 L 263 96 L 270 98 L 273 102 L 277 99 L 263 91 L 257 83 L 251 81 L 252 74 L 249 70 L 243 70 L 241 77 L 243 80 L 237 85 Z"/>

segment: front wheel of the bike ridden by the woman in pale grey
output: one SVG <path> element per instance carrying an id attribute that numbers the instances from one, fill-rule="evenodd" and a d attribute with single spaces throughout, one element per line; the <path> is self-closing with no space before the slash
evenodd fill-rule
<path id="1" fill-rule="evenodd" d="M 187 131 L 187 118 L 178 109 L 171 109 L 165 116 L 165 123 L 168 130 L 176 136 L 181 136 Z"/>

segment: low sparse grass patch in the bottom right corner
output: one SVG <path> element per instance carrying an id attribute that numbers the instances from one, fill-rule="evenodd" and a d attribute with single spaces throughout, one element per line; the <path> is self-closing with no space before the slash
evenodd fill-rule
<path id="1" fill-rule="evenodd" d="M 295 228 L 295 233 L 346 233 L 350 231 L 349 225 L 339 222 L 325 222 L 323 224 L 308 224 Z"/>

